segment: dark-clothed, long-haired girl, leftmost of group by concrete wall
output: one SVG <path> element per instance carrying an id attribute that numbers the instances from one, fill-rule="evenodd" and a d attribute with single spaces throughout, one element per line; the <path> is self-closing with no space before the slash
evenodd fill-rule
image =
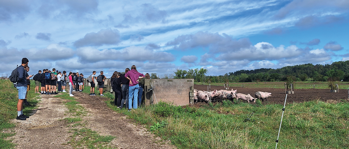
<path id="1" fill-rule="evenodd" d="M 111 87 L 113 88 L 113 91 L 115 92 L 115 99 L 114 104 L 120 108 L 121 104 L 121 81 L 119 79 L 120 75 L 119 72 L 114 72 L 113 76 L 111 76 Z"/>

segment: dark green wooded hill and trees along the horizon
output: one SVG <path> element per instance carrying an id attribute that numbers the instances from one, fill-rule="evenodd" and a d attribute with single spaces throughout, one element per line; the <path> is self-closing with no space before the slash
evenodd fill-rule
<path id="1" fill-rule="evenodd" d="M 261 68 L 254 70 L 238 70 L 219 76 L 206 76 L 207 69 L 177 69 L 173 78 L 194 78 L 195 82 L 223 83 L 223 82 L 265 82 L 285 81 L 292 77 L 294 81 L 349 81 L 349 61 L 333 62 L 331 65 L 304 64 L 286 66 L 279 69 Z M 156 76 L 156 74 L 152 74 Z M 172 76 L 172 75 L 167 75 Z M 152 77 L 154 78 L 154 77 Z M 170 79 L 170 78 L 163 78 Z"/>

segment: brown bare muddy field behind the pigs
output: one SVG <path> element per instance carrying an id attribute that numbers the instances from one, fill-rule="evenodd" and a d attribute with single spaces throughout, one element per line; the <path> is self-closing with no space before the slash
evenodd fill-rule
<path id="1" fill-rule="evenodd" d="M 207 85 L 194 85 L 194 89 L 207 90 Z M 211 91 L 214 89 L 224 89 L 222 86 L 211 85 Z M 256 88 L 241 88 L 234 87 L 229 88 L 237 90 L 237 93 L 250 94 L 254 97 L 254 93 L 257 91 L 266 91 L 272 93 L 272 97 L 264 100 L 263 104 L 283 104 L 285 102 L 285 89 L 256 89 Z M 287 103 L 300 103 L 310 100 L 321 100 L 324 102 L 337 103 L 341 102 L 341 99 L 348 99 L 348 90 L 340 89 L 339 92 L 330 92 L 329 89 L 296 89 L 295 94 L 287 95 Z"/>

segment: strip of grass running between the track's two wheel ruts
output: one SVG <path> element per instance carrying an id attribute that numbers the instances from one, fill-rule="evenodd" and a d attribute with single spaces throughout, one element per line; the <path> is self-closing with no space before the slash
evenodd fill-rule
<path id="1" fill-rule="evenodd" d="M 60 95 L 54 96 L 62 99 L 67 99 L 65 103 L 68 111 L 66 111 L 67 118 L 64 120 L 67 127 L 70 127 L 72 133 L 68 144 L 73 148 L 88 148 L 88 149 L 109 149 L 109 142 L 114 139 L 114 136 L 102 136 L 97 132 L 92 131 L 86 127 L 87 121 L 83 121 L 83 117 L 88 115 L 86 109 L 79 105 L 74 97 L 70 97 L 68 93 L 61 92 Z M 62 144 L 66 145 L 66 144 Z"/>

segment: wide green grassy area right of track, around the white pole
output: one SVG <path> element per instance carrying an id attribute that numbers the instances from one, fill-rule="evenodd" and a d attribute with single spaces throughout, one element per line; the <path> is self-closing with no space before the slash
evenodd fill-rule
<path id="1" fill-rule="evenodd" d="M 230 149 L 275 148 L 283 105 L 267 106 L 224 101 L 201 107 L 173 106 L 159 102 L 127 112 L 107 105 L 146 125 L 154 134 L 178 148 Z M 321 101 L 288 104 L 285 107 L 278 148 L 347 148 L 349 102 Z"/>

